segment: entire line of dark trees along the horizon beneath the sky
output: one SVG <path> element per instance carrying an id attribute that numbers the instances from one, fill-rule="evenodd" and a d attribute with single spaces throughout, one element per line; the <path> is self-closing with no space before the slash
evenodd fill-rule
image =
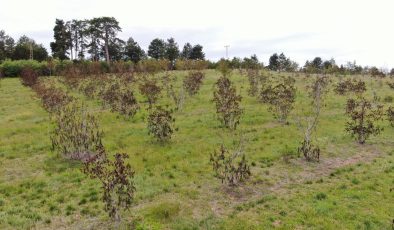
<path id="1" fill-rule="evenodd" d="M 51 56 L 59 60 L 91 60 L 103 61 L 107 63 L 113 61 L 132 61 L 138 63 L 148 58 L 167 59 L 174 68 L 177 59 L 204 60 L 205 53 L 200 44 L 192 45 L 189 42 L 184 44 L 182 50 L 174 38 L 166 40 L 153 39 L 145 51 L 132 37 L 126 41 L 118 37 L 122 31 L 119 22 L 114 17 L 97 17 L 93 19 L 64 21 L 55 20 L 53 28 L 54 41 L 50 43 Z M 42 44 L 36 43 L 32 38 L 21 36 L 17 42 L 0 30 L 0 63 L 3 60 L 34 59 L 44 61 L 49 58 L 48 51 Z M 256 55 L 243 59 L 234 57 L 232 60 L 225 60 L 233 69 L 256 69 L 263 68 Z M 217 63 L 211 62 L 211 68 L 216 68 Z M 362 67 L 355 62 L 348 62 L 346 65 L 337 65 L 335 60 L 323 60 L 315 57 L 306 61 L 304 66 L 299 64 L 284 53 L 274 53 L 269 58 L 269 63 L 265 68 L 272 71 L 324 74 L 371 74 L 373 76 L 383 76 L 387 71 L 382 71 L 377 67 Z M 394 68 L 390 75 L 394 75 Z"/>

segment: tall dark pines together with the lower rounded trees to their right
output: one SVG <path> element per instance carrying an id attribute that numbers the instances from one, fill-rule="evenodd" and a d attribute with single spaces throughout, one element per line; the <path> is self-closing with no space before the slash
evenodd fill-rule
<path id="1" fill-rule="evenodd" d="M 114 17 L 99 17 L 89 20 L 63 21 L 56 19 L 54 42 L 51 42 L 53 57 L 64 59 L 89 58 L 93 61 L 133 61 L 137 63 L 148 56 L 154 59 L 168 59 L 174 62 L 178 58 L 203 60 L 205 54 L 199 44 L 192 46 L 186 43 L 180 51 L 174 38 L 163 40 L 155 38 L 151 41 L 148 51 L 132 38 L 127 41 L 117 35 L 122 28 Z"/>

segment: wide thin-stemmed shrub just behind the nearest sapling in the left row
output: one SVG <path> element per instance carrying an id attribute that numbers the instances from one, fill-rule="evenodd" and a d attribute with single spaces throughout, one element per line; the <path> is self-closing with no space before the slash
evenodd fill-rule
<path id="1" fill-rule="evenodd" d="M 103 133 L 96 117 L 88 113 L 84 106 L 70 103 L 55 113 L 54 121 L 52 150 L 74 160 L 85 160 L 96 153 Z"/>

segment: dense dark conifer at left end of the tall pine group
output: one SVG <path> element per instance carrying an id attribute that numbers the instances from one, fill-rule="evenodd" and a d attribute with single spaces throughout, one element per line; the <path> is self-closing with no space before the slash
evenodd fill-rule
<path id="1" fill-rule="evenodd" d="M 70 28 L 66 26 L 63 20 L 56 19 L 53 33 L 55 41 L 50 44 L 53 57 L 60 60 L 68 59 L 68 49 L 71 47 Z"/>

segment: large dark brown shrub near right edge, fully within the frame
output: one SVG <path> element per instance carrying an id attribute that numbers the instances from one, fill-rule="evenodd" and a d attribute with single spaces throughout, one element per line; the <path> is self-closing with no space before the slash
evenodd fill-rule
<path id="1" fill-rule="evenodd" d="M 373 108 L 371 102 L 364 97 L 348 99 L 346 114 L 351 119 L 346 123 L 346 131 L 356 137 L 360 144 L 364 144 L 370 135 L 378 135 L 382 130 L 375 122 L 382 119 L 383 106 Z"/>

